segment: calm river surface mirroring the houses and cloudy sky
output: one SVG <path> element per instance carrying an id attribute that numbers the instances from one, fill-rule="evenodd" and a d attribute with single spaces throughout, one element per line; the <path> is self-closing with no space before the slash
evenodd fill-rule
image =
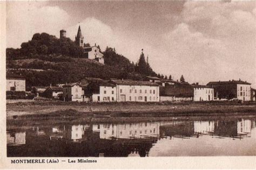
<path id="1" fill-rule="evenodd" d="M 227 155 L 256 155 L 255 131 L 255 119 L 59 124 L 9 130 L 7 144 L 9 157 L 147 157 L 225 155 L 221 148 L 241 145 L 228 139 L 238 139 L 244 150 Z"/>

